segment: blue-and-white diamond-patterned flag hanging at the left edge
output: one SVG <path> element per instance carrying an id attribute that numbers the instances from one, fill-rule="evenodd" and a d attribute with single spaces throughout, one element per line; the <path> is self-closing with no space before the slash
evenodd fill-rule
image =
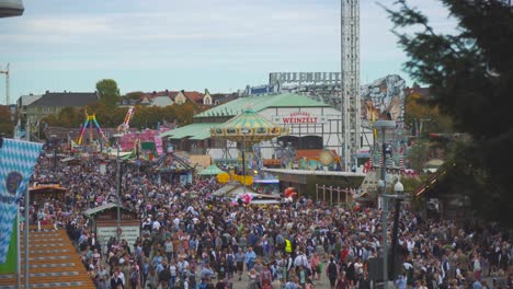
<path id="1" fill-rule="evenodd" d="M 0 264 L 5 263 L 18 200 L 25 192 L 43 144 L 0 139 Z"/>

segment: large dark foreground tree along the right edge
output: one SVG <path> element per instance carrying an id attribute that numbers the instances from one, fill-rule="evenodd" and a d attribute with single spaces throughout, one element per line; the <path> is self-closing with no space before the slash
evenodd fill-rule
<path id="1" fill-rule="evenodd" d="M 476 180 L 468 194 L 472 204 L 486 204 L 481 217 L 511 226 L 513 194 L 513 114 L 506 105 L 513 92 L 513 10 L 499 0 L 441 0 L 457 20 L 455 34 L 436 33 L 429 20 L 406 0 L 387 9 L 399 45 L 409 56 L 411 77 L 430 85 L 432 104 L 447 113 L 458 131 L 472 141 L 454 154 L 446 182 L 458 192 L 463 182 Z M 404 32 L 420 27 L 414 33 Z M 465 167 L 463 170 L 461 167 Z M 483 189 L 485 188 L 485 189 Z M 486 203 L 480 203 L 486 200 Z"/>

